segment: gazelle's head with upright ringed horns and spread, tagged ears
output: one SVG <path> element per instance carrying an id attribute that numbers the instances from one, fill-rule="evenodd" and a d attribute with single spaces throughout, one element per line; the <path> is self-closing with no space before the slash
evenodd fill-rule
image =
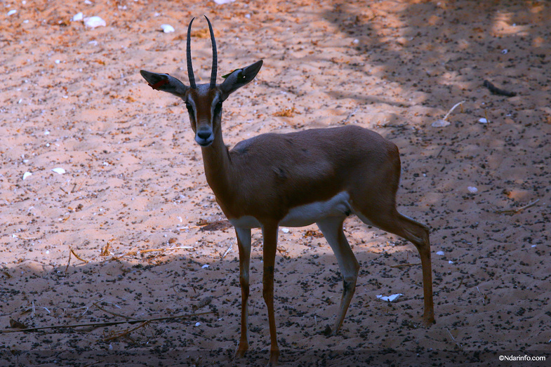
<path id="1" fill-rule="evenodd" d="M 206 15 L 205 15 L 206 18 Z M 238 88 L 253 80 L 263 61 L 257 61 L 253 65 L 236 69 L 229 74 L 222 84 L 216 84 L 216 71 L 218 66 L 218 55 L 216 53 L 216 41 L 214 39 L 211 21 L 208 22 L 208 30 L 211 32 L 211 43 L 213 45 L 213 65 L 211 69 L 211 81 L 209 84 L 195 84 L 191 57 L 191 31 L 192 23 L 187 27 L 187 76 L 190 79 L 190 86 L 186 86 L 180 80 L 168 74 L 158 74 L 140 70 L 147 83 L 157 91 L 164 91 L 176 95 L 185 102 L 187 112 L 190 114 L 190 122 L 195 133 L 195 141 L 201 147 L 208 147 L 212 144 L 215 133 L 220 129 L 222 117 L 222 103 Z"/>

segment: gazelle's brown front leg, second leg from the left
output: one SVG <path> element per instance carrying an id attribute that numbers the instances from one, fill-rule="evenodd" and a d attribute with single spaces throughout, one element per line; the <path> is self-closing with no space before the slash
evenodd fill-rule
<path id="1" fill-rule="evenodd" d="M 277 224 L 270 223 L 262 227 L 264 239 L 263 296 L 268 309 L 268 322 L 270 323 L 270 361 L 267 366 L 276 366 L 279 359 L 274 315 L 274 265 L 277 250 L 277 230 Z"/>

